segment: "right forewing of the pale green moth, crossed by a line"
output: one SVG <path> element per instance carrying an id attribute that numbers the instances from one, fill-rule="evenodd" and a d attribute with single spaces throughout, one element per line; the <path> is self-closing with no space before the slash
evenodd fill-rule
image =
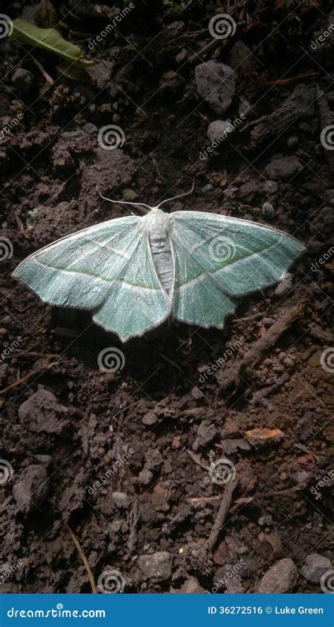
<path id="1" fill-rule="evenodd" d="M 200 211 L 171 213 L 173 237 L 225 292 L 242 296 L 277 283 L 304 251 L 278 229 Z"/>

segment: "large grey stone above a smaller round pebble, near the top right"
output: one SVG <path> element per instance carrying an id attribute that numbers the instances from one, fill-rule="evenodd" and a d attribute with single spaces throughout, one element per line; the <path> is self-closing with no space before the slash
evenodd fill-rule
<path id="1" fill-rule="evenodd" d="M 223 115 L 233 101 L 235 90 L 233 69 L 211 60 L 200 63 L 194 71 L 199 96 L 204 98 L 218 115 Z"/>

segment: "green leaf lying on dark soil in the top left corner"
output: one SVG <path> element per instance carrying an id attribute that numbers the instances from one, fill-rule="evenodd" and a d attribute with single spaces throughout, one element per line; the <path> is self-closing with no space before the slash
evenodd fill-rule
<path id="1" fill-rule="evenodd" d="M 22 44 L 39 46 L 49 52 L 54 52 L 69 63 L 79 63 L 81 66 L 92 66 L 93 61 L 85 58 L 79 46 L 67 42 L 58 30 L 54 28 L 39 28 L 26 20 L 20 18 L 13 20 L 13 32 L 11 37 L 17 39 Z"/>

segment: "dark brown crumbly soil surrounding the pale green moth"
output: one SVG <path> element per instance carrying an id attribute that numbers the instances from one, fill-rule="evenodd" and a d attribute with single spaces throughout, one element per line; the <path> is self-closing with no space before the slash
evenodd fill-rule
<path id="1" fill-rule="evenodd" d="M 0 118 L 22 114 L 0 144 L 3 592 L 90 592 L 69 528 L 100 592 L 108 573 L 116 591 L 255 592 L 285 558 L 297 569 L 291 591 L 323 592 L 302 567 L 333 547 L 333 151 L 321 142 L 334 123 L 333 37 L 311 46 L 329 4 L 238 2 L 225 39 L 208 30 L 223 3 L 184 4 L 136 3 L 93 47 L 109 5 L 0 7 L 30 20 L 38 9 L 43 27 L 61 20 L 95 62 L 85 76 L 1 39 Z M 197 92 L 194 68 L 209 59 L 236 68 L 223 116 Z M 13 79 L 18 69 L 28 75 Z M 245 100 L 245 123 L 202 159 L 209 123 L 235 120 Z M 106 125 L 124 132 L 115 150 L 97 140 Z M 269 223 L 307 247 L 279 287 L 242 299 L 223 331 L 171 323 L 120 344 L 88 313 L 52 308 L 11 279 L 49 242 L 129 214 L 99 192 L 155 204 L 194 175 L 192 195 L 167 211 Z M 123 354 L 118 371 L 99 368 L 106 348 Z M 217 462 L 236 485 L 211 547 L 227 490 Z"/>

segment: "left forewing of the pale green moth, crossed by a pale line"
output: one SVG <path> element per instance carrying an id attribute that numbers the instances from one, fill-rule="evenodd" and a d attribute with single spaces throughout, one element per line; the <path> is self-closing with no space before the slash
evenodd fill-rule
<path id="1" fill-rule="evenodd" d="M 130 259 L 140 232 L 135 216 L 91 226 L 33 253 L 13 277 L 44 302 L 92 310 Z"/>

